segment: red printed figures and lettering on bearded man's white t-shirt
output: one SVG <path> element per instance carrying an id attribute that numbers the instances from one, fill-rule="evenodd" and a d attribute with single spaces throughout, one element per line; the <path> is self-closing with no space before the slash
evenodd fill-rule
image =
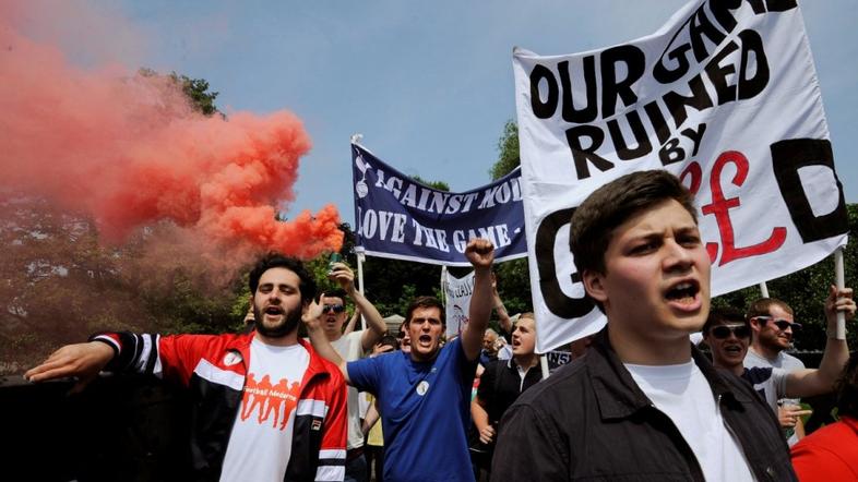
<path id="1" fill-rule="evenodd" d="M 257 382 L 257 375 L 248 373 L 245 394 L 241 397 L 241 421 L 250 419 L 255 413 L 251 421 L 255 420 L 262 425 L 273 419 L 272 429 L 286 429 L 289 413 L 298 405 L 300 390 L 300 382 L 289 384 L 288 379 L 281 378 L 276 385 L 272 385 L 269 375 Z"/>

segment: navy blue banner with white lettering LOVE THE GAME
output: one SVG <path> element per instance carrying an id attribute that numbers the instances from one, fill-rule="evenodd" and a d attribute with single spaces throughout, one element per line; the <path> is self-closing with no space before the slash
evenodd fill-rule
<path id="1" fill-rule="evenodd" d="M 470 266 L 472 238 L 494 244 L 494 260 L 527 255 L 521 172 L 473 191 L 439 191 L 351 144 L 357 246 L 368 255 Z"/>

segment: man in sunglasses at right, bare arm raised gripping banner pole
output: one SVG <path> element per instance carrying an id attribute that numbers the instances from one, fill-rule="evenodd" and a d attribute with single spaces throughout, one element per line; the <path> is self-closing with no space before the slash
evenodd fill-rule
<path id="1" fill-rule="evenodd" d="M 847 318 L 855 315 L 855 302 L 851 300 L 851 290 L 832 289 L 825 300 L 825 315 L 829 320 L 830 332 L 836 326 L 837 315 L 841 311 Z M 791 372 L 771 366 L 754 366 L 746 369 L 748 345 L 751 341 L 751 326 L 744 314 L 736 309 L 715 308 L 710 313 L 706 324 L 703 325 L 703 340 L 712 350 L 712 363 L 720 369 L 741 376 L 753 385 L 754 389 L 777 413 L 777 400 L 782 398 L 812 397 L 834 390 L 837 376 L 849 358 L 846 340 L 829 337 L 822 362 L 819 370 L 800 369 Z M 782 426 L 795 426 L 798 418 L 809 414 L 808 410 L 795 410 L 787 417 L 780 417 Z"/>

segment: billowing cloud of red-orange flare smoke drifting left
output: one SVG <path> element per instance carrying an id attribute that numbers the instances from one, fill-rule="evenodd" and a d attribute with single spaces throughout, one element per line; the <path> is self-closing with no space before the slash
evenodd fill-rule
<path id="1" fill-rule="evenodd" d="M 295 116 L 204 117 L 168 77 L 138 75 L 135 67 L 73 65 L 59 48 L 12 25 L 36 22 L 45 9 L 3 3 L 0 188 L 86 213 L 112 242 L 168 219 L 208 253 L 274 250 L 307 258 L 341 248 L 332 205 L 275 220 L 295 200 L 298 161 L 310 148 Z"/>

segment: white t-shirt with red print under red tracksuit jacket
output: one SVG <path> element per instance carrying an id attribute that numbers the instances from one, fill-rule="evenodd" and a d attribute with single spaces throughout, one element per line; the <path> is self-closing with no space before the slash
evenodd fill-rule
<path id="1" fill-rule="evenodd" d="M 301 345 L 275 347 L 253 338 L 222 481 L 283 481 L 291 456 L 295 408 L 309 363 L 310 353 Z"/>

